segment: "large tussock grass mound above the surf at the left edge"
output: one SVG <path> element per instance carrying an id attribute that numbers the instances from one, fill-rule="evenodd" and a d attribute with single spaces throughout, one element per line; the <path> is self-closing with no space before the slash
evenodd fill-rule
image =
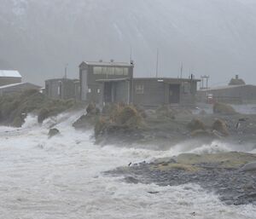
<path id="1" fill-rule="evenodd" d="M 20 127 L 28 113 L 38 114 L 38 122 L 75 107 L 73 100 L 52 100 L 37 89 L 27 89 L 0 97 L 0 123 Z"/>

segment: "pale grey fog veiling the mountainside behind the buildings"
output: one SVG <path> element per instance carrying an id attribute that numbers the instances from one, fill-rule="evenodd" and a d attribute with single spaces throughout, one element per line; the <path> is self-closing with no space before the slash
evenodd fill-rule
<path id="1" fill-rule="evenodd" d="M 0 0 L 0 68 L 24 80 L 79 77 L 81 61 L 130 61 L 135 76 L 190 73 L 256 83 L 252 0 Z"/>

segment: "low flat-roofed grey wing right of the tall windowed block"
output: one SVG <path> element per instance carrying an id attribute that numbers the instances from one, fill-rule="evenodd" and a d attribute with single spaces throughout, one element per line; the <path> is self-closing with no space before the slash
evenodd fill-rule
<path id="1" fill-rule="evenodd" d="M 195 78 L 133 78 L 132 102 L 143 107 L 195 103 Z"/>

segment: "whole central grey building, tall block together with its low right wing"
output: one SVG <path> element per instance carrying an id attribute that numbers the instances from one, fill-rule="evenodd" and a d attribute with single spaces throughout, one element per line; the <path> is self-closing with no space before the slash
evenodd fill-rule
<path id="1" fill-rule="evenodd" d="M 123 102 L 143 107 L 195 103 L 195 78 L 133 78 L 133 63 L 82 62 L 81 100 L 97 104 Z"/>

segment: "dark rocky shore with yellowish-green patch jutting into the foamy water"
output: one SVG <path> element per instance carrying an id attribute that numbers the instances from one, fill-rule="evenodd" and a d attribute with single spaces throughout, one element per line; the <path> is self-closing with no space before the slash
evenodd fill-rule
<path id="1" fill-rule="evenodd" d="M 208 192 L 217 193 L 226 205 L 256 204 L 255 154 L 181 154 L 150 163 L 130 164 L 106 174 L 124 176 L 127 183 L 160 186 L 196 183 Z"/>

